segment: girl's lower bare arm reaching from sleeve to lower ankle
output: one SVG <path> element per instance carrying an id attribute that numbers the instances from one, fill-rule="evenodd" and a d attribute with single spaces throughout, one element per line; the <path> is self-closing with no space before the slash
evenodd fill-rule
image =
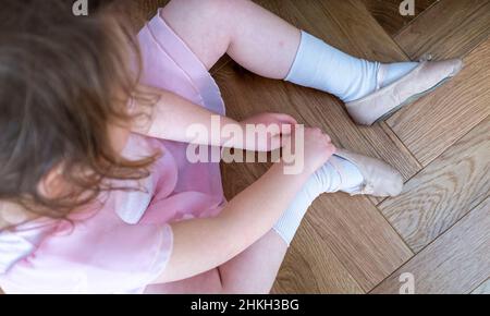
<path id="1" fill-rule="evenodd" d="M 232 259 L 271 230 L 309 175 L 333 154 L 330 138 L 319 130 L 305 131 L 305 168 L 284 174 L 275 163 L 253 185 L 236 195 L 216 218 L 172 224 L 173 252 L 154 283 L 191 278 Z"/>

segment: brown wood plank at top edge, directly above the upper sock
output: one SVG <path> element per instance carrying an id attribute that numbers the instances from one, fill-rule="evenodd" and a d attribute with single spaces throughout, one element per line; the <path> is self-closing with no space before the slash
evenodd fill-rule
<path id="1" fill-rule="evenodd" d="M 259 2 L 297 27 L 350 54 L 382 62 L 407 59 L 362 1 L 262 0 Z"/>

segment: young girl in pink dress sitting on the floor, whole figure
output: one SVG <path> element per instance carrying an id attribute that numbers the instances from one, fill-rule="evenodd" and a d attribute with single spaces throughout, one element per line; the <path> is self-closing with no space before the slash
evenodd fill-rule
<path id="1" fill-rule="evenodd" d="M 293 144 L 304 146 L 302 172 L 274 163 L 226 203 L 219 166 L 186 159 L 187 142 L 225 139 L 191 139 L 186 130 L 210 127 L 211 116 L 241 129 L 296 122 L 225 118 L 208 73 L 224 53 L 258 75 L 335 95 L 360 124 L 462 66 L 356 59 L 247 0 L 174 0 L 135 41 L 119 11 L 74 16 L 65 2 L 8 0 L 0 12 L 7 293 L 267 293 L 317 196 L 401 192 L 391 167 L 306 129 Z"/>

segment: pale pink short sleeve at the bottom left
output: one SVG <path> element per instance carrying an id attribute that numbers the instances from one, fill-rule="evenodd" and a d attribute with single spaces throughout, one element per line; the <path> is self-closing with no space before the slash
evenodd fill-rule
<path id="1" fill-rule="evenodd" d="M 7 293 L 135 292 L 162 274 L 172 243 L 168 224 L 66 226 L 1 275 L 1 285 Z"/>

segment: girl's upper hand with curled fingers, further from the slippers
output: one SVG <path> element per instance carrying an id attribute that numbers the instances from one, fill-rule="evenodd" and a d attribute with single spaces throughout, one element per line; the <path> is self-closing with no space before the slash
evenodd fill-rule
<path id="1" fill-rule="evenodd" d="M 256 138 L 255 146 L 249 144 L 249 139 L 245 139 L 245 148 L 257 151 L 271 151 L 281 148 L 285 142 L 289 142 L 291 131 L 293 130 L 293 126 L 297 124 L 297 121 L 289 114 L 260 113 L 243 120 L 240 124 L 242 125 L 243 131 L 246 131 L 247 124 L 266 126 L 268 131 L 267 137 Z M 289 129 L 285 129 L 285 133 L 282 132 L 284 125 L 290 125 Z"/>

